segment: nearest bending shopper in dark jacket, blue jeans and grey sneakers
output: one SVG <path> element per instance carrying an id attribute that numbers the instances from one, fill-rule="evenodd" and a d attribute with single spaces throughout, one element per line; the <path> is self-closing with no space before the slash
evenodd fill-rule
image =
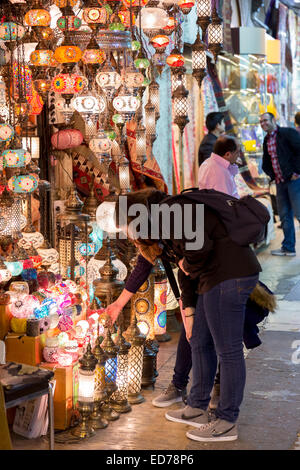
<path id="1" fill-rule="evenodd" d="M 193 386 L 187 405 L 181 410 L 168 411 L 165 416 L 169 421 L 197 428 L 187 432 L 190 439 L 235 440 L 246 380 L 243 354 L 245 306 L 257 284 L 261 266 L 249 246 L 237 245 L 228 237 L 225 226 L 213 210 L 204 205 L 203 218 L 199 219 L 199 204 L 184 194 L 167 197 L 160 191 L 148 189 L 129 193 L 126 198 L 125 213 L 120 198 L 116 203 L 116 225 L 134 240 L 140 255 L 125 288 L 106 312 L 112 322 L 116 321 L 126 303 L 147 279 L 157 257 L 177 264 L 184 326 L 192 350 Z M 157 224 L 154 226 L 152 222 L 151 226 L 154 204 L 159 204 L 160 209 L 162 205 L 164 209 L 168 206 L 171 215 L 166 218 L 166 212 L 161 212 Z M 152 235 L 152 230 L 146 238 L 137 234 L 140 219 L 137 224 L 128 213 L 133 209 L 140 212 L 141 205 L 146 207 L 145 225 L 158 229 L 158 237 Z M 181 219 L 178 214 L 175 216 L 175 205 L 180 208 Z M 184 216 L 186 211 L 189 224 Z M 123 220 L 123 224 L 118 220 Z M 202 247 L 196 248 L 190 245 L 193 239 L 187 231 L 196 234 L 200 229 L 203 243 L 200 244 Z M 207 408 L 217 360 L 222 386 L 214 418 L 210 417 Z"/>

